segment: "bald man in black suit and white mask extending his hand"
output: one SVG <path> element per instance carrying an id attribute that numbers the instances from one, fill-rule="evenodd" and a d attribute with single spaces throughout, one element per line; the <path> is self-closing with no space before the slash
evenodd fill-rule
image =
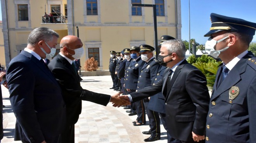
<path id="1" fill-rule="evenodd" d="M 62 143 L 74 143 L 74 124 L 78 121 L 82 109 L 82 101 L 86 100 L 103 106 L 109 102 L 123 102 L 116 94 L 113 96 L 99 94 L 83 89 L 80 85 L 80 77 L 76 71 L 73 60 L 80 59 L 83 54 L 83 43 L 76 36 L 65 36 L 61 39 L 61 52 L 52 59 L 48 67 L 62 89 L 62 95 L 66 104 L 67 124 L 61 134 Z"/>

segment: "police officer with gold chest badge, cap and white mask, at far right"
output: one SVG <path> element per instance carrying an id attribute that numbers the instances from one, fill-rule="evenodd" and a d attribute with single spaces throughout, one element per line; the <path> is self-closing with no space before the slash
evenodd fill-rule
<path id="1" fill-rule="evenodd" d="M 207 143 L 256 141 L 256 58 L 248 52 L 256 23 L 211 14 L 205 46 L 223 61 L 216 74 L 206 122 Z"/>

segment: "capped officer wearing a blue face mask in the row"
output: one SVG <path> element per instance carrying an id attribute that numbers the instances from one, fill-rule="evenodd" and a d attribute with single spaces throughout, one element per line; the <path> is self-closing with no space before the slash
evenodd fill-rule
<path id="1" fill-rule="evenodd" d="M 140 57 L 140 48 L 138 47 L 131 47 L 130 49 L 130 56 L 131 58 L 133 58 L 133 60 L 130 62 L 130 64 L 127 66 L 126 68 L 126 73 L 125 73 L 125 89 L 126 91 L 128 91 L 127 94 L 130 94 L 132 92 L 135 92 L 137 89 L 137 83 L 138 83 L 138 77 L 139 77 L 139 73 L 140 70 L 139 68 L 142 67 L 145 63 L 145 61 L 141 60 Z M 140 106 L 137 106 L 140 105 Z M 135 108 L 136 106 L 136 108 Z M 132 103 L 131 104 L 131 113 L 128 114 L 129 116 L 133 116 L 133 115 L 138 115 L 138 113 L 136 111 L 140 109 L 141 111 L 145 110 L 144 104 L 142 102 L 142 100 L 138 101 L 137 103 Z M 134 126 L 140 126 L 142 124 L 146 123 L 146 119 L 145 119 L 145 113 L 142 115 L 137 117 L 136 121 L 133 122 Z"/>

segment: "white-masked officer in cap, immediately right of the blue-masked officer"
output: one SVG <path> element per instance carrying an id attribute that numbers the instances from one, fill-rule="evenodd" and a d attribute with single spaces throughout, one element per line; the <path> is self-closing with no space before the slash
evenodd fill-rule
<path id="1" fill-rule="evenodd" d="M 153 57 L 153 51 L 155 48 L 152 46 L 142 44 L 140 45 L 140 54 L 143 61 L 145 61 L 145 64 L 140 68 L 140 76 L 138 78 L 138 84 L 137 84 L 137 90 L 143 89 L 144 87 L 148 87 L 150 85 L 153 85 L 154 81 L 156 80 L 157 72 L 160 68 L 160 65 L 158 64 L 157 60 Z M 143 103 L 145 106 L 145 109 L 147 111 L 147 116 L 149 118 L 149 131 L 144 131 L 142 133 L 144 134 L 151 134 L 151 136 L 147 139 L 145 139 L 145 142 L 150 141 L 156 141 L 160 139 L 160 118 L 158 112 L 149 110 L 148 104 L 149 104 L 149 98 L 143 99 Z M 139 105 L 140 106 L 140 105 Z M 137 109 L 137 108 L 136 108 Z M 137 112 L 144 112 L 141 114 L 145 114 L 145 110 L 138 111 Z"/>

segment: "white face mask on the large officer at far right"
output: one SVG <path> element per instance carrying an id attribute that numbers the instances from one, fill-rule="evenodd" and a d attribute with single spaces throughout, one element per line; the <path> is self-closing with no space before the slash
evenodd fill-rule
<path id="1" fill-rule="evenodd" d="M 214 47 L 216 46 L 217 43 L 219 43 L 219 42 L 221 42 L 221 41 L 223 41 L 223 40 L 225 40 L 225 39 L 227 39 L 227 38 L 228 38 L 228 36 L 227 36 L 227 37 L 224 37 L 224 38 L 222 38 L 222 39 L 220 39 L 220 40 L 218 40 L 218 41 L 209 38 L 209 39 L 206 41 L 206 43 L 205 43 L 205 50 L 209 52 L 209 55 L 210 55 L 210 56 L 213 56 L 214 58 L 218 58 L 218 56 L 220 55 L 220 52 L 223 52 L 223 51 L 227 50 L 229 47 L 226 47 L 226 48 L 221 49 L 221 50 L 218 50 L 218 51 L 216 51 L 216 50 L 214 49 Z"/>

